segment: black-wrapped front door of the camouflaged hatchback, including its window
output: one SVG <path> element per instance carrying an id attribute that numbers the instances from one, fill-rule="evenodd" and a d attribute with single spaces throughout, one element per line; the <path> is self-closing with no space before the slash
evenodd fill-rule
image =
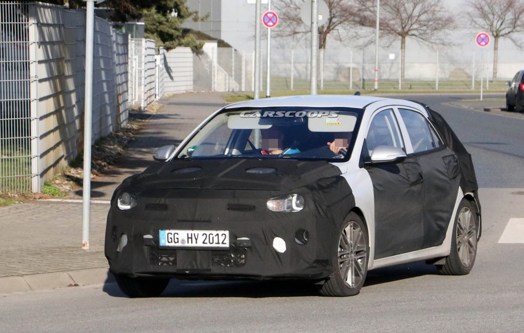
<path id="1" fill-rule="evenodd" d="M 362 160 L 378 146 L 406 151 L 393 108 L 378 110 L 370 121 Z M 409 147 L 408 147 L 409 148 Z M 375 199 L 375 259 L 419 250 L 422 225 L 422 170 L 416 158 L 396 164 L 366 164 Z"/>

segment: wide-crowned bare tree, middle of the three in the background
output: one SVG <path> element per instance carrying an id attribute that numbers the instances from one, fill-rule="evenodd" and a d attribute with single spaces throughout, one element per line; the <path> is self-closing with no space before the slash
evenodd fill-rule
<path id="1" fill-rule="evenodd" d="M 359 23 L 374 28 L 376 0 L 355 0 Z M 496 1 L 496 0 L 493 0 Z M 381 0 L 380 33 L 400 38 L 401 80 L 405 77 L 406 39 L 414 38 L 428 45 L 442 45 L 439 32 L 453 26 L 453 16 L 446 13 L 441 0 Z"/>

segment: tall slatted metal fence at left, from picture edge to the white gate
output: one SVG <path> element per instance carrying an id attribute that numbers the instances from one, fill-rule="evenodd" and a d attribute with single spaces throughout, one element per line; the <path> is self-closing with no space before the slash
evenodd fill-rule
<path id="1" fill-rule="evenodd" d="M 0 2 L 0 193 L 38 192 L 83 145 L 85 12 Z M 93 142 L 127 122 L 127 35 L 95 20 Z"/>

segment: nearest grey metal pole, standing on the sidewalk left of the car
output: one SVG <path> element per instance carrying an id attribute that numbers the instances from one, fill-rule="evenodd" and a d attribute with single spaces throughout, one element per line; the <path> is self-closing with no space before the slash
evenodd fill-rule
<path id="1" fill-rule="evenodd" d="M 93 108 L 93 34 L 95 0 L 87 0 L 85 16 L 84 179 L 82 184 L 82 249 L 89 250 L 91 213 L 91 123 Z"/>

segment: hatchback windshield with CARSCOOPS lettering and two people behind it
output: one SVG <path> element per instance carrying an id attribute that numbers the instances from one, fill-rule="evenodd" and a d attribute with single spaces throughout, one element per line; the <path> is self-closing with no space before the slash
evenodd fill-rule
<path id="1" fill-rule="evenodd" d="M 225 110 L 201 127 L 177 158 L 341 161 L 351 156 L 362 113 L 355 108 Z"/>

